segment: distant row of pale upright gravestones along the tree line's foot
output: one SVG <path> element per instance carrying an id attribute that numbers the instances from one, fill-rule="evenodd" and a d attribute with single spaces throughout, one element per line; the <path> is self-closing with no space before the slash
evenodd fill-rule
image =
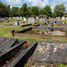
<path id="1" fill-rule="evenodd" d="M 0 18 L 0 20 L 4 20 L 4 19 L 6 19 L 7 17 L 5 17 L 5 18 Z M 50 18 L 50 17 L 49 17 Z M 9 17 L 9 19 L 11 19 L 11 17 Z M 13 17 L 13 19 L 16 19 L 16 20 L 21 20 L 21 19 L 23 19 L 24 21 L 27 21 L 27 19 L 25 18 L 25 17 Z M 44 22 L 45 20 L 46 20 L 46 18 L 39 18 L 39 17 L 36 17 L 36 19 L 40 19 L 40 21 L 41 22 Z M 51 20 L 53 20 L 54 18 L 50 18 Z M 56 17 L 55 19 L 57 19 L 57 20 L 60 20 L 60 19 L 62 19 L 62 20 L 67 20 L 67 17 L 62 17 L 62 18 L 60 18 L 60 17 Z M 28 21 L 29 22 L 31 22 L 31 20 L 32 20 L 32 22 L 34 22 L 35 21 L 35 18 L 33 18 L 33 17 L 30 17 L 30 18 L 28 18 Z"/>

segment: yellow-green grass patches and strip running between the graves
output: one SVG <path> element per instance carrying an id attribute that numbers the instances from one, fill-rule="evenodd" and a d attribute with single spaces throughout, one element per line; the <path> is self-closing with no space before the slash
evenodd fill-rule
<path id="1" fill-rule="evenodd" d="M 0 25 L 2 24 L 3 26 L 5 24 L 13 24 L 14 20 L 12 19 L 10 23 L 5 23 L 5 21 L 3 23 L 0 23 Z M 67 23 L 67 20 L 64 20 L 62 21 L 64 23 Z M 39 23 L 39 20 L 37 20 L 37 23 Z M 48 36 L 47 38 L 37 38 L 37 37 L 12 37 L 10 35 L 10 31 L 11 30 L 16 30 L 16 31 L 19 31 L 19 30 L 23 30 L 27 27 L 20 27 L 20 26 L 4 26 L 4 27 L 0 27 L 0 37 L 2 38 L 16 38 L 18 40 L 26 40 L 30 45 L 33 43 L 33 42 L 66 42 L 67 43 L 67 39 L 65 39 L 64 37 L 61 37 L 61 38 L 52 38 L 50 36 Z M 57 64 L 58 67 L 67 67 L 67 65 L 64 65 L 64 64 Z"/>

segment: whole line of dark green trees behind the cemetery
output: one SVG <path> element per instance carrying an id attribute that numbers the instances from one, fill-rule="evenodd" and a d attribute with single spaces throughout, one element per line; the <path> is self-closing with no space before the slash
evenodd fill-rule
<path id="1" fill-rule="evenodd" d="M 27 4 L 23 4 L 21 8 L 12 7 L 10 5 L 3 4 L 0 2 L 0 17 L 36 17 L 36 16 L 46 16 L 46 17 L 62 17 L 66 16 L 66 8 L 63 4 L 58 4 L 52 11 L 51 7 L 46 5 L 43 8 L 36 6 L 28 7 Z"/>

